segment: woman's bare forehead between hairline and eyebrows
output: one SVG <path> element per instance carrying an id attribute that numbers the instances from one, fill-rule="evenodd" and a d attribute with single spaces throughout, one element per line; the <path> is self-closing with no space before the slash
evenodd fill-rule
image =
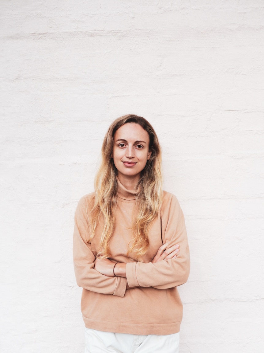
<path id="1" fill-rule="evenodd" d="M 145 141 L 149 143 L 149 134 L 142 126 L 136 124 L 136 122 L 127 122 L 117 129 L 114 134 L 114 141 L 123 139 L 127 141 Z"/>

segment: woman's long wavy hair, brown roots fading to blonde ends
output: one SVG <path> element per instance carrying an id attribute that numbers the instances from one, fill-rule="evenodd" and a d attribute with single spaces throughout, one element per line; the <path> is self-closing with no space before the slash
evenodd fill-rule
<path id="1" fill-rule="evenodd" d="M 139 192 L 136 196 L 133 239 L 127 252 L 127 254 L 133 253 L 133 258 L 139 259 L 149 249 L 148 232 L 162 203 L 161 146 L 157 134 L 151 124 L 142 116 L 134 114 L 121 116 L 112 122 L 105 135 L 101 150 L 101 165 L 95 177 L 95 202 L 91 211 L 90 238 L 88 241 L 94 237 L 99 219 L 103 219 L 100 243 L 102 251 L 100 255 L 104 258 L 111 257 L 109 241 L 115 228 L 113 210 L 117 205 L 118 183 L 116 177 L 118 171 L 112 158 L 114 134 L 119 127 L 129 122 L 139 124 L 149 134 L 149 149 L 151 151 L 150 159 L 147 160 L 135 186 L 135 190 L 139 190 Z"/>

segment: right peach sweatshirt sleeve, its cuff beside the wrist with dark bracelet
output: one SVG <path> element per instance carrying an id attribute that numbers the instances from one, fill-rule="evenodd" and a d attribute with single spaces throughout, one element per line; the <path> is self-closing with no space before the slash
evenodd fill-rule
<path id="1" fill-rule="evenodd" d="M 177 258 L 156 263 L 127 263 L 128 286 L 172 288 L 185 283 L 190 271 L 190 255 L 184 216 L 177 198 L 165 193 L 161 208 L 163 244 L 171 240 L 171 245 L 179 244 Z"/>

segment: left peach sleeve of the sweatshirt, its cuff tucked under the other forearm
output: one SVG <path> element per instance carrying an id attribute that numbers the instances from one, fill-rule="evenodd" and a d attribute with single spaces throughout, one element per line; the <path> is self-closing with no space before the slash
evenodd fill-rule
<path id="1" fill-rule="evenodd" d="M 75 212 L 73 235 L 73 260 L 77 285 L 88 291 L 124 297 L 126 278 L 108 277 L 94 269 L 95 256 L 86 240 L 88 229 L 87 197 L 84 196 Z"/>

